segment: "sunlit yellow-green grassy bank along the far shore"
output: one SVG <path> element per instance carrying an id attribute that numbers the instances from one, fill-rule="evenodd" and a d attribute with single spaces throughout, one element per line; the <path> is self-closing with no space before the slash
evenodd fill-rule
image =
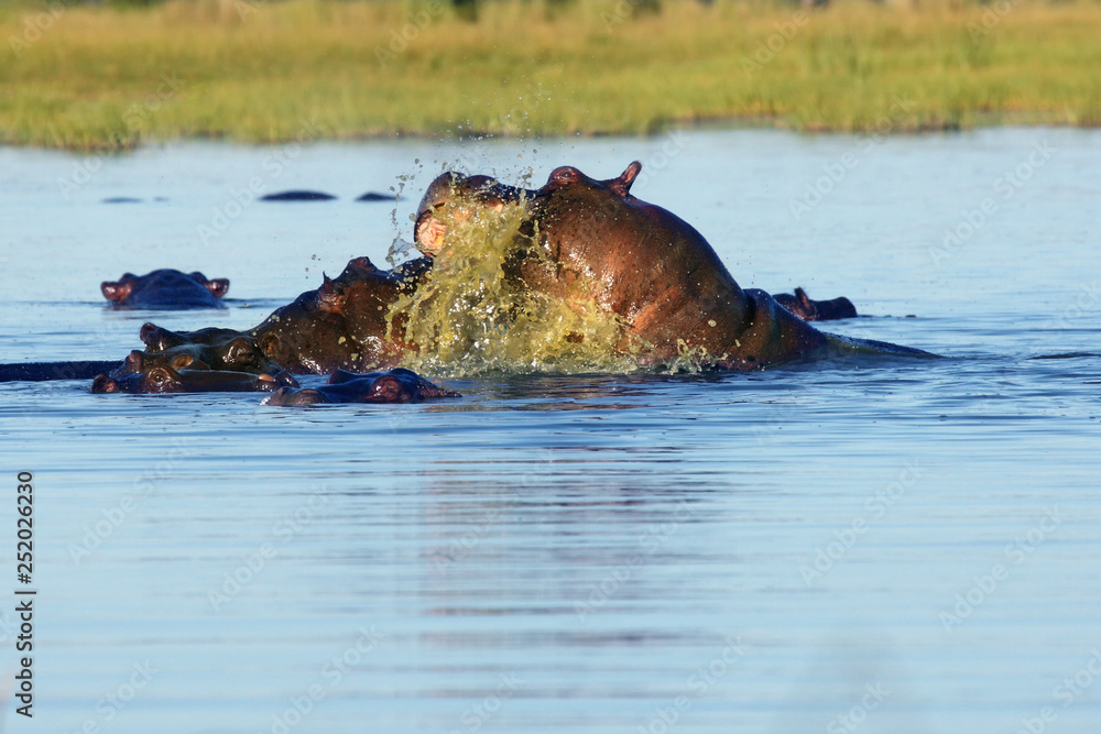
<path id="1" fill-rule="evenodd" d="M 1097 0 L 636 2 L 6 4 L 0 141 L 1101 124 Z"/>

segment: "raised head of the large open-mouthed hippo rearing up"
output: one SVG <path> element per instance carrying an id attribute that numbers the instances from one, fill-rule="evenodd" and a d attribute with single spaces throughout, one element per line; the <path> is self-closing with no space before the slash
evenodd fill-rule
<path id="1" fill-rule="evenodd" d="M 593 300 L 657 360 L 676 357 L 684 344 L 729 352 L 748 324 L 745 295 L 699 232 L 631 194 L 641 171 L 634 162 L 599 180 L 562 166 L 534 190 L 444 174 L 421 201 L 415 242 L 437 256 L 450 247 L 448 222 L 524 207 L 521 233 L 534 237 L 553 263 L 520 269 L 534 289 Z"/>

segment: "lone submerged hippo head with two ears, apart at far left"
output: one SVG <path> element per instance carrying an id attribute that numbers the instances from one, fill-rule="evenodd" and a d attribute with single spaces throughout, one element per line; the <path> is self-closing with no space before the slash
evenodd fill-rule
<path id="1" fill-rule="evenodd" d="M 225 308 L 221 297 L 229 291 L 229 281 L 162 269 L 145 275 L 124 273 L 118 281 L 103 281 L 99 289 L 111 302 L 110 308 Z"/>

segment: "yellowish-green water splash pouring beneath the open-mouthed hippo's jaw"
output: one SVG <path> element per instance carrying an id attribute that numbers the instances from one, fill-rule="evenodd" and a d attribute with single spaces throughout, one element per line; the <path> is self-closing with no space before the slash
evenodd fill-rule
<path id="1" fill-rule="evenodd" d="M 579 288 L 550 295 L 516 276 L 523 258 L 549 264 L 537 238 L 522 233 L 526 215 L 524 202 L 436 215 L 447 233 L 428 280 L 388 315 L 388 336 L 419 347 L 404 366 L 448 376 L 640 369 L 643 344 L 619 316 Z"/>

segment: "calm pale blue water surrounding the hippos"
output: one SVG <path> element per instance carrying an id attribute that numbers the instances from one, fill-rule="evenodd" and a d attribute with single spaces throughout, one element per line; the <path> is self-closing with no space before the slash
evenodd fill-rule
<path id="1" fill-rule="evenodd" d="M 381 264 L 444 166 L 634 158 L 743 286 L 847 295 L 868 316 L 832 330 L 947 359 L 321 409 L 0 385 L 2 533 L 34 472 L 39 590 L 7 731 L 1095 732 L 1101 132 L 0 149 L 0 361 L 253 326 Z M 252 179 L 341 198 L 238 207 Z M 170 266 L 231 307 L 102 308 Z"/>

